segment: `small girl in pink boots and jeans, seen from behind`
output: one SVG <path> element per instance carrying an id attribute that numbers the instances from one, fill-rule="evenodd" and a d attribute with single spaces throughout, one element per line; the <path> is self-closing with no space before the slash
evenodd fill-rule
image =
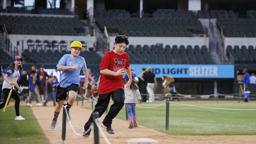
<path id="1" fill-rule="evenodd" d="M 132 79 L 134 74 L 132 73 Z M 129 78 L 127 74 L 124 76 L 125 83 L 128 82 Z M 129 118 L 129 128 L 137 127 L 137 117 L 135 112 L 136 103 L 141 100 L 141 94 L 136 85 L 136 81 L 132 80 L 130 88 L 127 89 L 127 85 L 124 86 L 124 96 L 125 96 L 125 107 L 127 110 L 127 116 Z"/>

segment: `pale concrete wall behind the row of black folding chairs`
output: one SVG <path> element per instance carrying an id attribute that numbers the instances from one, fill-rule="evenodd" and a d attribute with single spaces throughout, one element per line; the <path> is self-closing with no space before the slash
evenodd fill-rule
<path id="1" fill-rule="evenodd" d="M 41 40 L 43 43 L 44 40 L 49 40 L 51 42 L 52 40 L 56 40 L 58 43 L 61 40 L 65 40 L 67 42 L 67 48 L 69 48 L 71 41 L 76 40 L 76 41 L 84 41 L 87 43 L 87 50 L 89 48 L 93 47 L 93 44 L 96 43 L 96 37 L 95 36 L 57 36 L 57 35 L 16 35 L 16 34 L 11 34 L 10 40 L 12 42 L 12 48 L 17 46 L 17 41 L 20 42 L 18 46 L 18 52 L 19 55 L 22 53 L 22 40 L 23 40 L 23 48 L 27 49 L 27 40 L 31 39 L 35 42 L 35 40 Z"/>

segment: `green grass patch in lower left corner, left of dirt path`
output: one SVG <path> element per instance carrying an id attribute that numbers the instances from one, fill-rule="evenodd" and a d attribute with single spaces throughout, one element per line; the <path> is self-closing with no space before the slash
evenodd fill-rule
<path id="1" fill-rule="evenodd" d="M 26 120 L 14 120 L 15 108 L 0 111 L 0 143 L 5 144 L 50 144 L 30 107 L 20 107 L 21 116 Z"/>

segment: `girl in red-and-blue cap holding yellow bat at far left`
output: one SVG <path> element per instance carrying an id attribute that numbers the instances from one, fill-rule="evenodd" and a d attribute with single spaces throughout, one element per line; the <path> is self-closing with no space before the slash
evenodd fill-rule
<path id="1" fill-rule="evenodd" d="M 7 72 L 4 75 L 4 83 L 3 83 L 3 87 L 2 87 L 2 90 L 4 91 L 4 102 L 2 104 L 0 104 L 0 109 L 2 109 L 5 106 L 5 103 L 7 101 L 7 97 L 12 88 L 12 85 L 15 85 L 16 88 L 20 92 L 22 92 L 22 90 L 20 90 L 20 87 L 16 83 L 16 81 L 14 82 L 14 79 L 18 80 L 19 74 L 22 70 L 21 61 L 23 61 L 22 58 L 20 58 L 19 56 L 15 56 L 13 58 L 13 62 L 8 66 L 8 68 L 6 70 Z M 19 115 L 20 98 L 15 90 L 12 91 L 11 97 L 15 100 L 15 105 L 14 105 L 15 112 L 16 112 L 15 120 L 25 120 L 25 118 L 23 118 L 22 116 Z M 8 104 L 9 104 L 9 101 L 8 101 Z"/>

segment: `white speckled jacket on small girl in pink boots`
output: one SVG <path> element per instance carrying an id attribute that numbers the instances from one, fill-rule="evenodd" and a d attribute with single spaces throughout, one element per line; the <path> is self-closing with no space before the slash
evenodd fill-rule
<path id="1" fill-rule="evenodd" d="M 139 89 L 131 90 L 130 88 L 127 89 L 127 85 L 124 85 L 124 96 L 125 100 L 124 103 L 137 103 L 138 98 L 141 99 L 141 93 Z"/>

